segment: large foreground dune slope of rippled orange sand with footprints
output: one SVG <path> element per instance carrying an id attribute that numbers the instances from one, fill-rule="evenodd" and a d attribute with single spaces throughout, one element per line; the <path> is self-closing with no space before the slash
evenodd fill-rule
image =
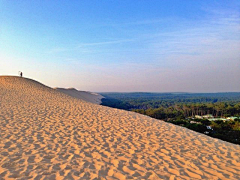
<path id="1" fill-rule="evenodd" d="M 240 146 L 0 76 L 0 179 L 240 179 Z"/>

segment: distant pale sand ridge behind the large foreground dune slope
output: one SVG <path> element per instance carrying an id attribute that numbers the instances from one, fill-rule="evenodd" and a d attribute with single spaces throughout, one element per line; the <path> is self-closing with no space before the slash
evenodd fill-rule
<path id="1" fill-rule="evenodd" d="M 94 104 L 101 104 L 102 103 L 101 99 L 104 98 L 100 94 L 87 92 L 87 91 L 78 91 L 74 88 L 68 88 L 68 89 L 55 88 L 55 89 L 60 91 L 60 92 L 65 93 L 69 96 L 72 96 L 72 97 L 75 97 L 75 98 L 78 98 L 78 99 L 82 99 L 84 101 L 91 102 L 91 103 L 94 103 Z"/>

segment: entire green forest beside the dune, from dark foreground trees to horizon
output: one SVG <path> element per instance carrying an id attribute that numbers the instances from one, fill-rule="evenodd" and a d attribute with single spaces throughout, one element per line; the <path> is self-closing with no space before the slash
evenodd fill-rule
<path id="1" fill-rule="evenodd" d="M 240 93 L 101 93 L 104 106 L 141 113 L 156 119 L 181 125 L 204 133 L 206 126 L 213 127 L 209 135 L 240 144 Z M 238 117 L 235 121 L 197 120 L 196 115 Z"/>

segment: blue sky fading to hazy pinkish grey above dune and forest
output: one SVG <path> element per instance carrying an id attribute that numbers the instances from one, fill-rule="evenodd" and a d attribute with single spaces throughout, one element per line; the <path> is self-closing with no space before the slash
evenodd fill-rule
<path id="1" fill-rule="evenodd" d="M 51 87 L 240 91 L 239 0 L 0 0 L 0 75 Z"/>

